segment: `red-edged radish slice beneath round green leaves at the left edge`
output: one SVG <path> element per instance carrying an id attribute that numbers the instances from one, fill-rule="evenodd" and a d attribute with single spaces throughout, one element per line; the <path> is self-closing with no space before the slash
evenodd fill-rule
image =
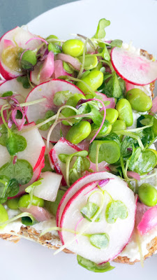
<path id="1" fill-rule="evenodd" d="M 23 130 L 32 127 L 35 123 L 24 125 Z M 17 153 L 18 160 L 27 160 L 33 167 L 33 172 L 38 168 L 40 162 L 43 160 L 45 153 L 45 144 L 38 132 L 37 128 L 29 130 L 28 132 L 22 132 L 21 135 L 27 141 L 27 147 L 24 151 Z M 0 167 L 10 160 L 10 155 L 7 148 L 0 145 L 1 162 Z"/>

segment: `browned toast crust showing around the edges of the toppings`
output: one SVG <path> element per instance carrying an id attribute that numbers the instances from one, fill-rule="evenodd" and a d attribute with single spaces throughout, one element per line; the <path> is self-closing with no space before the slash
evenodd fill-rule
<path id="1" fill-rule="evenodd" d="M 140 55 L 143 55 L 144 57 L 146 57 L 147 59 L 152 60 L 153 59 L 153 55 L 150 55 L 149 52 L 147 52 L 147 50 L 140 50 Z M 154 87 L 155 87 L 155 82 L 151 83 L 150 85 L 150 90 L 151 90 L 151 97 L 154 97 Z M 31 241 L 36 241 L 39 244 L 47 247 L 47 248 L 52 248 L 54 250 L 57 250 L 58 248 L 61 247 L 61 241 L 59 239 L 59 237 L 57 235 L 52 235 L 51 232 L 47 232 L 45 235 L 43 235 L 42 237 L 40 237 L 40 232 L 36 231 L 34 228 L 27 226 L 24 227 L 22 226 L 20 228 L 20 232 L 16 233 L 6 233 L 6 234 L 0 234 L 0 238 L 4 239 L 4 240 L 8 240 L 8 241 L 13 241 L 14 243 L 17 243 L 18 241 L 20 241 L 20 239 L 24 237 L 27 238 Z M 54 243 L 58 244 L 57 245 L 53 245 L 51 241 L 55 241 Z M 156 251 L 157 251 L 157 237 L 155 237 L 154 239 L 152 239 L 149 244 L 147 244 L 147 250 L 148 253 L 147 255 L 144 255 L 144 260 L 146 258 L 149 258 L 151 255 L 153 255 Z M 73 253 L 71 251 L 69 251 L 68 249 L 64 248 L 63 252 L 65 253 Z M 139 262 L 140 260 L 134 260 L 134 262 L 130 262 L 130 259 L 127 258 L 126 256 L 121 257 L 120 255 L 114 259 L 114 262 L 120 262 L 120 263 L 126 263 L 128 265 L 133 265 L 135 264 L 135 262 Z"/>

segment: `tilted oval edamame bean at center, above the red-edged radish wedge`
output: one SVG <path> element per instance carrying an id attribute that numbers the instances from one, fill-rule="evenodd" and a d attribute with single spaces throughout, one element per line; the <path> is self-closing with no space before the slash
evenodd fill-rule
<path id="1" fill-rule="evenodd" d="M 66 139 L 73 144 L 79 144 L 86 139 L 91 133 L 91 125 L 86 120 L 81 120 L 80 123 L 73 125 L 66 134 Z"/>

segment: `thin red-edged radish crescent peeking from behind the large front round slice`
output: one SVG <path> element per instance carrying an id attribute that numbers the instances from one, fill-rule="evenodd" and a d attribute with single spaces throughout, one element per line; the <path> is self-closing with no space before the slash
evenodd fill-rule
<path id="1" fill-rule="evenodd" d="M 77 190 L 80 190 L 83 186 L 85 186 L 87 183 L 91 183 L 96 180 L 104 180 L 107 178 L 114 178 L 114 175 L 109 174 L 108 172 L 96 172 L 91 173 L 83 176 L 82 178 L 78 179 L 73 183 L 72 186 L 66 191 L 66 193 L 63 195 L 61 202 L 59 203 L 59 207 L 57 209 L 57 227 L 60 227 L 60 221 L 61 216 L 63 214 L 63 209 L 66 207 L 66 204 L 70 200 L 73 195 L 77 192 Z"/>

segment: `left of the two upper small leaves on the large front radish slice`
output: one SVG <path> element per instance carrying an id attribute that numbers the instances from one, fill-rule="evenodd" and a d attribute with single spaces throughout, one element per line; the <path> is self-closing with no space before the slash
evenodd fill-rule
<path id="1" fill-rule="evenodd" d="M 100 207 L 94 202 L 87 202 L 87 204 L 81 209 L 81 214 L 87 221 L 92 222 L 92 218 L 96 215 Z M 100 221 L 100 215 L 96 218 L 95 222 Z"/>

